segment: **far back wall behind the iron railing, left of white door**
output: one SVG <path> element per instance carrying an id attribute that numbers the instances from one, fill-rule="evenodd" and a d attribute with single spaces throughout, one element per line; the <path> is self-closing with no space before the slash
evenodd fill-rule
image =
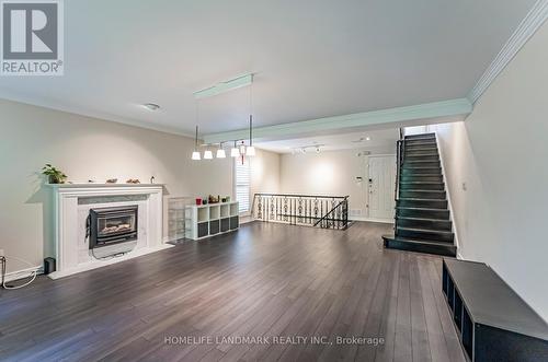
<path id="1" fill-rule="evenodd" d="M 375 153 L 393 153 L 393 147 Z M 283 154 L 281 190 L 284 194 L 350 196 L 351 219 L 367 218 L 367 164 L 362 150 Z M 358 183 L 356 177 L 362 177 Z"/>

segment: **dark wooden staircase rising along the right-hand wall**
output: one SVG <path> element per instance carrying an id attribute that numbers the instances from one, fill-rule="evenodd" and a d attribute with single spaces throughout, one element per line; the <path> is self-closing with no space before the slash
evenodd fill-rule
<path id="1" fill-rule="evenodd" d="M 456 256 L 435 133 L 406 136 L 398 144 L 395 234 L 385 247 Z"/>

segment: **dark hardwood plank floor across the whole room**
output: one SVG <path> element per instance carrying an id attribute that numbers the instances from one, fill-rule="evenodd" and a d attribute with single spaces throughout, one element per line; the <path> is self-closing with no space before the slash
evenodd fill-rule
<path id="1" fill-rule="evenodd" d="M 384 249 L 390 227 L 251 223 L 69 278 L 39 277 L 0 291 L 0 360 L 464 361 L 442 259 Z M 270 343 L 220 340 L 246 336 Z M 309 339 L 281 338 L 289 336 Z M 352 336 L 370 339 L 336 342 Z"/>

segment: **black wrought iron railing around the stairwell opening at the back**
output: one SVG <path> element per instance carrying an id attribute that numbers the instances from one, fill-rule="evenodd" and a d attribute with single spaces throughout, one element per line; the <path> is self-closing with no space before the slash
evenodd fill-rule
<path id="1" fill-rule="evenodd" d="M 349 226 L 349 196 L 255 194 L 254 220 L 343 230 Z"/>

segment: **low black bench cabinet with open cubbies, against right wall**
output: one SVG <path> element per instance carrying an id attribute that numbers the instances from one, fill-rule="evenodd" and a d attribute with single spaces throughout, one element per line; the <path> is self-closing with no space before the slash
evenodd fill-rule
<path id="1" fill-rule="evenodd" d="M 491 268 L 444 259 L 442 291 L 471 361 L 548 361 L 548 325 Z"/>

